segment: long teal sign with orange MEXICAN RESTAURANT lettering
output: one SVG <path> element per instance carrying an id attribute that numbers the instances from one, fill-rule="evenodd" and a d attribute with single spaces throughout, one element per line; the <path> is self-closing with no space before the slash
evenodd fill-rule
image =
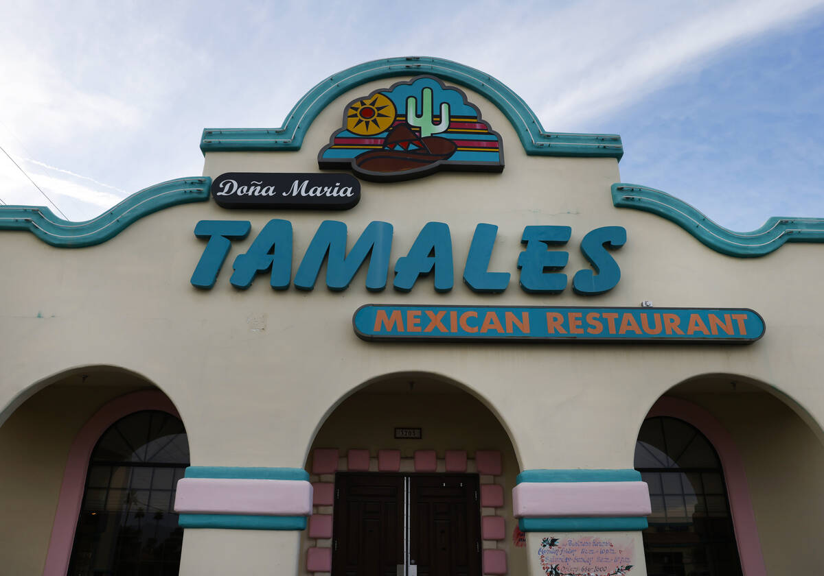
<path id="1" fill-rule="evenodd" d="M 750 309 L 416 306 L 366 304 L 352 318 L 363 340 L 598 341 L 748 344 L 764 335 Z"/>

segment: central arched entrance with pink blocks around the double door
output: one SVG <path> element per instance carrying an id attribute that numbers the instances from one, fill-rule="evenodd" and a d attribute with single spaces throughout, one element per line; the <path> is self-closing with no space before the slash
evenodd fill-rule
<path id="1" fill-rule="evenodd" d="M 321 425 L 302 574 L 526 574 L 513 444 L 489 407 L 430 374 L 392 374 Z"/>

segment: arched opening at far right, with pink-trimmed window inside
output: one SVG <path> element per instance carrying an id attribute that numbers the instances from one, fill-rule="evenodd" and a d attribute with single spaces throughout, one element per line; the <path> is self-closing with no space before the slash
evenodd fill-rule
<path id="1" fill-rule="evenodd" d="M 668 427 L 670 434 L 655 433 L 656 426 Z M 667 435 L 676 439 L 674 448 L 666 442 Z M 824 514 L 817 481 L 824 474 L 821 438 L 822 430 L 803 406 L 754 379 L 707 374 L 670 388 L 648 412 L 636 445 L 635 466 L 670 476 L 672 488 L 663 485 L 664 476 L 648 479 L 653 504 L 644 535 L 649 574 L 691 574 L 687 564 L 694 566 L 695 574 L 735 574 L 734 555 L 744 576 L 815 569 L 819 554 L 805 542 L 818 532 Z M 664 464 L 653 466 L 642 443 L 666 453 L 666 458 L 658 454 L 658 462 Z M 691 443 L 696 444 L 690 448 Z M 677 480 L 681 495 L 674 490 Z M 668 522 L 667 498 L 675 511 L 674 523 Z M 696 531 L 699 524 L 709 532 L 704 537 Z M 692 540 L 689 546 L 703 538 L 706 546 L 718 547 L 718 555 L 700 560 L 700 554 L 693 554 L 700 562 L 681 562 L 677 567 L 675 556 L 663 559 L 657 556 L 661 550 L 653 550 L 656 539 L 661 544 L 671 538 L 674 549 L 676 540 L 685 537 Z M 667 562 L 672 565 L 659 565 Z M 728 571 L 719 572 L 714 564 Z"/>

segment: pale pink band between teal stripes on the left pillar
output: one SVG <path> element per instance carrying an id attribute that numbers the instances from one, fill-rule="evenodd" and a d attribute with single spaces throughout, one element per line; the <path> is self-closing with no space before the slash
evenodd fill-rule
<path id="1" fill-rule="evenodd" d="M 310 516 L 312 487 L 302 480 L 183 478 L 175 511 L 199 514 Z"/>

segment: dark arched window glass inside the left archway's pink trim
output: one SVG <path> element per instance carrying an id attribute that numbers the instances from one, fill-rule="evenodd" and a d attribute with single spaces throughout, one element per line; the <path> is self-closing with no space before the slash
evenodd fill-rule
<path id="1" fill-rule="evenodd" d="M 115 422 L 91 453 L 68 576 L 175 576 L 175 487 L 189 466 L 183 422 L 162 411 Z"/>

